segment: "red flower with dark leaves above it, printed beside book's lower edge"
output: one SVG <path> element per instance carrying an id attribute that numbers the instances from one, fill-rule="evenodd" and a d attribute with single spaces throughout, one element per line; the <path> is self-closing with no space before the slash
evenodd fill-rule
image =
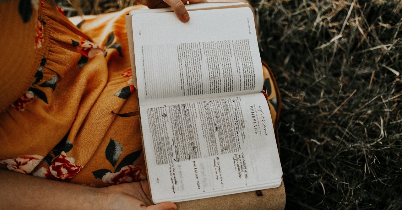
<path id="1" fill-rule="evenodd" d="M 106 147 L 105 155 L 109 163 L 115 167 L 115 170 L 114 172 L 109 169 L 92 171 L 94 177 L 96 179 L 101 179 L 103 183 L 107 184 L 128 183 L 145 179 L 145 176 L 141 174 L 142 168 L 134 166 L 134 163 L 137 162 L 142 150 L 128 154 L 117 165 L 122 152 L 123 146 L 118 141 L 110 139 L 109 144 Z"/>

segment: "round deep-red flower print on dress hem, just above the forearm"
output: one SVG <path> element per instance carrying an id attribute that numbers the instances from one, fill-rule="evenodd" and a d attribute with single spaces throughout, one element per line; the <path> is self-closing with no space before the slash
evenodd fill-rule
<path id="1" fill-rule="evenodd" d="M 82 166 L 75 165 L 74 161 L 74 158 L 67 157 L 66 153 L 62 151 L 59 156 L 51 161 L 49 165 L 50 173 L 58 179 L 71 179 L 82 169 Z"/>

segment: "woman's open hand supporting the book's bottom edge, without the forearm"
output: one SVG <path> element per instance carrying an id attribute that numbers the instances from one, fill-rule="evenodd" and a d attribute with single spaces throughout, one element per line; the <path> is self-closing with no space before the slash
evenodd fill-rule
<path id="1" fill-rule="evenodd" d="M 124 183 L 104 188 L 103 209 L 110 210 L 177 210 L 171 202 L 153 205 L 147 181 Z"/>

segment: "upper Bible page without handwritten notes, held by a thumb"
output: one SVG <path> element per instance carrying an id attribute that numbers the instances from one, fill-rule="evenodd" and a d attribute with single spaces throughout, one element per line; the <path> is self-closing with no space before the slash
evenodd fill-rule
<path id="1" fill-rule="evenodd" d="M 260 92 L 263 71 L 250 8 L 133 14 L 140 104 Z M 150 24 L 152 23 L 152 24 Z"/>

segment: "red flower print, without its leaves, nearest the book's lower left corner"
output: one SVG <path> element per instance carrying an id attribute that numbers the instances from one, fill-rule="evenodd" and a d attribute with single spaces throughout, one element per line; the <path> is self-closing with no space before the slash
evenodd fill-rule
<path id="1" fill-rule="evenodd" d="M 143 175 L 140 167 L 134 167 L 133 165 L 126 165 L 122 167 L 119 172 L 108 172 L 102 177 L 103 183 L 121 184 L 133 181 L 141 181 Z"/>

